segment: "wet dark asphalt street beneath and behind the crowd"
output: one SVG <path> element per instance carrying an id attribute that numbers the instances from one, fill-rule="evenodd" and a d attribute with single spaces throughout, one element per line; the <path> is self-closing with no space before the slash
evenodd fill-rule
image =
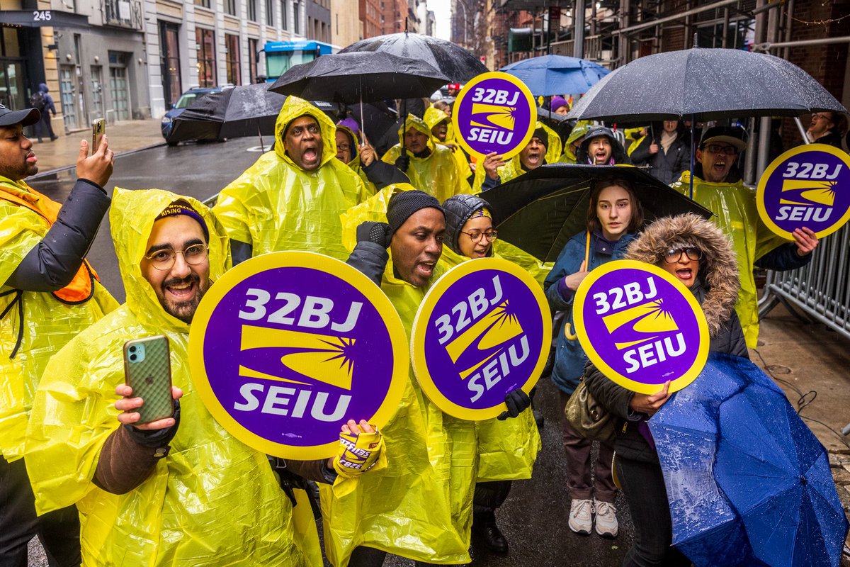
<path id="1" fill-rule="evenodd" d="M 268 144 L 270 139 L 266 142 Z M 167 146 L 144 150 L 116 159 L 111 184 L 129 189 L 157 187 L 206 199 L 222 189 L 250 166 L 259 151 L 248 151 L 258 139 L 233 139 L 222 144 Z M 258 150 L 258 148 L 257 148 Z M 73 170 L 58 178 L 31 180 L 31 185 L 48 196 L 64 201 L 74 183 Z M 109 224 L 101 224 L 88 258 L 99 271 L 101 281 L 119 301 L 124 300 L 112 247 Z M 543 448 L 538 456 L 534 478 L 515 482 L 507 502 L 497 513 L 501 530 L 511 550 L 507 556 L 473 548 L 477 567 L 615 567 L 631 545 L 632 526 L 622 495 L 617 498 L 620 536 L 610 540 L 578 536 L 567 527 L 570 498 L 566 489 L 564 452 L 560 445 L 558 394 L 548 379 L 541 381 L 535 400 L 545 416 L 541 429 Z M 663 505 L 663 503 L 660 503 Z M 46 565 L 31 559 L 31 566 Z M 401 558 L 388 558 L 386 566 L 412 565 Z"/>

